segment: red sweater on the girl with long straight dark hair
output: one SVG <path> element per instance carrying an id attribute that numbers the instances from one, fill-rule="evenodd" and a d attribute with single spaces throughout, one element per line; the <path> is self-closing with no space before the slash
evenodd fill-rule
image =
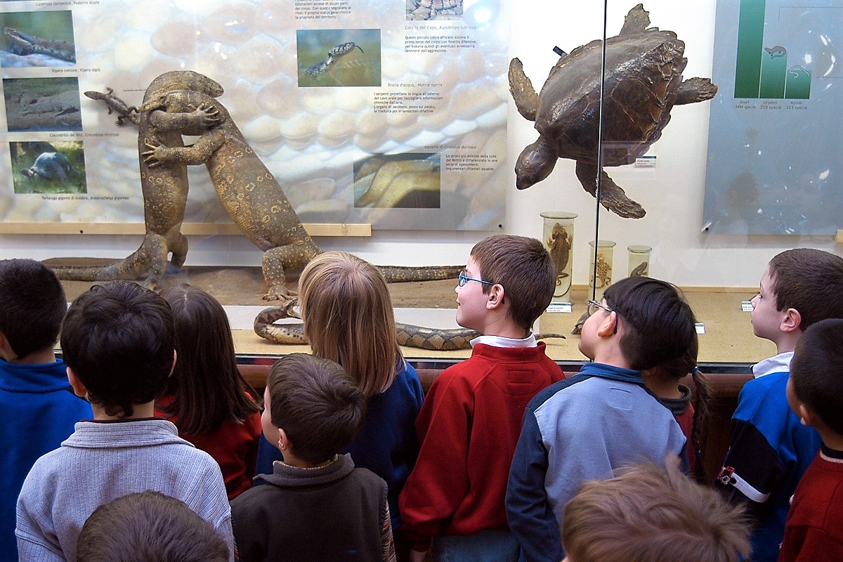
<path id="1" fill-rule="evenodd" d="M 168 394 L 156 400 L 155 415 L 167 418 L 175 424 L 175 415 L 167 417 L 158 411 L 159 408 L 167 408 L 173 404 L 174 399 L 172 394 Z M 242 424 L 226 420 L 223 426 L 213 433 L 185 435 L 179 430 L 179 436 L 193 443 L 197 449 L 207 452 L 217 461 L 220 470 L 223 471 L 228 500 L 234 500 L 252 487 L 260 440 L 260 412 L 250 415 Z"/>

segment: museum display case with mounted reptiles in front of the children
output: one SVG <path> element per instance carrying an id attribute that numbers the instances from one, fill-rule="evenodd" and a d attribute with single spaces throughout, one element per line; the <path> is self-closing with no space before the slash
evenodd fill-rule
<path id="1" fill-rule="evenodd" d="M 248 225 L 274 217 L 317 249 L 450 271 L 390 287 L 400 322 L 455 329 L 454 271 L 473 244 L 491 233 L 548 244 L 543 217 L 576 217 L 555 299 L 569 306 L 538 327 L 566 335 L 547 340 L 550 356 L 585 361 L 572 330 L 595 295 L 589 280 L 611 271 L 681 287 L 700 363 L 747 372 L 775 353 L 749 323 L 767 261 L 841 252 L 843 3 L 634 6 L 0 3 L 0 258 L 119 261 L 138 279 L 201 286 L 226 306 L 250 363 L 307 347 L 255 334 L 274 304 L 264 252 L 288 243 L 267 245 Z M 210 82 L 180 74 L 161 86 L 172 71 Z M 155 110 L 192 120 L 173 132 L 148 118 Z M 213 145 L 223 129 L 236 147 Z M 184 147 L 191 165 L 169 166 L 165 149 Z M 252 175 L 221 163 L 229 149 Z M 139 247 L 162 251 L 151 234 L 181 270 L 138 263 Z M 616 244 L 609 257 L 598 240 Z M 290 288 L 300 265 L 287 264 Z M 66 281 L 68 297 L 89 285 Z M 422 366 L 469 353 L 405 348 Z"/>

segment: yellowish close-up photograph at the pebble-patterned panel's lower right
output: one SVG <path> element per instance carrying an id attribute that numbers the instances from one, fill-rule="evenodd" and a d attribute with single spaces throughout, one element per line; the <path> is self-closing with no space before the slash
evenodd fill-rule
<path id="1" fill-rule="evenodd" d="M 374 154 L 354 163 L 354 206 L 438 209 L 439 153 Z"/>

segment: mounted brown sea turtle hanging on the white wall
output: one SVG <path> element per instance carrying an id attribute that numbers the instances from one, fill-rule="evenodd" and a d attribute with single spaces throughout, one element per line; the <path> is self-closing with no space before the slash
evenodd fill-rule
<path id="1" fill-rule="evenodd" d="M 649 13 L 632 8 L 620 34 L 606 40 L 603 166 L 623 166 L 658 141 L 674 105 L 711 99 L 709 78 L 682 79 L 688 60 L 685 43 L 673 31 L 647 28 Z M 524 148 L 515 163 L 516 185 L 524 190 L 545 179 L 557 158 L 577 161 L 577 178 L 597 193 L 601 40 L 560 57 L 536 94 L 518 58 L 509 63 L 509 91 L 518 113 L 535 121 L 539 140 Z M 641 205 L 600 170 L 600 203 L 628 218 L 641 218 Z"/>

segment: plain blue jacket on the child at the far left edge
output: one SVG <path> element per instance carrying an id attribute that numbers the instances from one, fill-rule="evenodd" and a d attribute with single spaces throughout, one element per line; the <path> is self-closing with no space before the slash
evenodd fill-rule
<path id="1" fill-rule="evenodd" d="M 73 424 L 94 417 L 73 394 L 64 362 L 27 365 L 0 360 L 0 560 L 17 560 L 15 505 L 26 474 L 59 447 Z"/>

